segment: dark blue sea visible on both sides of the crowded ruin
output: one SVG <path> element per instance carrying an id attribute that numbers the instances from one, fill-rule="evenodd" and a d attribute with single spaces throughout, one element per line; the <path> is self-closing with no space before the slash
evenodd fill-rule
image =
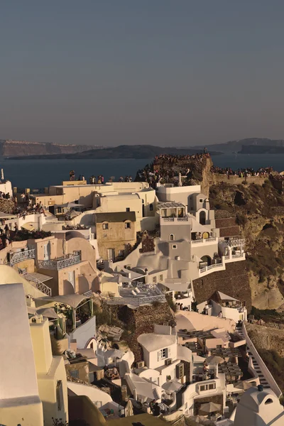
<path id="1" fill-rule="evenodd" d="M 214 165 L 221 168 L 271 166 L 278 172 L 284 170 L 284 154 L 222 154 L 212 157 Z M 120 176 L 132 176 L 133 180 L 138 169 L 151 163 L 146 159 L 119 160 L 0 160 L 0 168 L 4 169 L 5 179 L 11 180 L 12 185 L 26 188 L 44 188 L 49 185 L 61 185 L 62 180 L 69 180 L 70 170 L 75 170 L 75 177 L 84 175 L 89 181 L 91 175 L 104 175 L 104 181 L 109 178 L 119 180 Z"/>

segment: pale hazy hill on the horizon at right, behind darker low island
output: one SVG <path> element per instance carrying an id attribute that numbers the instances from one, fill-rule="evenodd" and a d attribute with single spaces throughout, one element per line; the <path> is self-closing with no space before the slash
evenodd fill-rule
<path id="1" fill-rule="evenodd" d="M 241 151 L 242 146 L 284 146 L 283 139 L 268 139 L 268 138 L 246 138 L 239 139 L 236 141 L 229 141 L 226 143 L 214 143 L 208 145 L 209 151 L 221 151 L 222 153 L 234 153 Z M 194 146 L 190 148 L 199 148 L 200 146 Z"/>

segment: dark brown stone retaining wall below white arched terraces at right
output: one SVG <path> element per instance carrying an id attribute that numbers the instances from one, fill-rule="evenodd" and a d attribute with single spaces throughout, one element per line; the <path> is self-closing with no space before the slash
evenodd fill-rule
<path id="1" fill-rule="evenodd" d="M 209 300 L 216 290 L 235 297 L 241 302 L 246 301 L 246 308 L 251 311 L 251 288 L 246 261 L 227 263 L 225 271 L 218 271 L 197 278 L 193 281 L 197 304 Z"/>

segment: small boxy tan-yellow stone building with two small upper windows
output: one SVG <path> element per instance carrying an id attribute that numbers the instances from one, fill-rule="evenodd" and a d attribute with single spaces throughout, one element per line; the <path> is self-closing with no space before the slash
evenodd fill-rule
<path id="1" fill-rule="evenodd" d="M 136 244 L 135 212 L 96 214 L 99 253 L 105 260 L 126 256 Z"/>

